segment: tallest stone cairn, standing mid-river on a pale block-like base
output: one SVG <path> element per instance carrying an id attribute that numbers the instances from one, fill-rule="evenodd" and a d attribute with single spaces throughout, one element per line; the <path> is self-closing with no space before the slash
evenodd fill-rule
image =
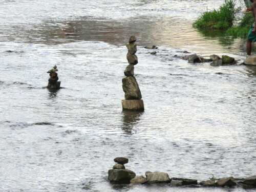
<path id="1" fill-rule="evenodd" d="M 135 55 L 137 52 L 137 45 L 135 44 L 136 37 L 130 36 L 129 43 L 126 44 L 128 53 L 126 58 L 129 65 L 124 70 L 125 78 L 122 79 L 122 87 L 124 91 L 124 98 L 122 100 L 123 110 L 144 111 L 144 103 L 141 99 L 141 92 L 139 85 L 134 77 L 134 66 L 138 63 L 138 57 Z"/>

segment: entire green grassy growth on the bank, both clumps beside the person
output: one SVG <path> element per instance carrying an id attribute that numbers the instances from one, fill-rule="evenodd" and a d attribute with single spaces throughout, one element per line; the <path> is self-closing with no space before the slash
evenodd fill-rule
<path id="1" fill-rule="evenodd" d="M 236 8 L 237 0 L 225 0 L 218 10 L 204 12 L 193 23 L 193 27 L 201 29 L 225 29 L 226 35 L 246 37 L 254 22 L 251 13 L 241 13 L 241 7 Z M 234 25 L 235 24 L 235 25 Z"/>

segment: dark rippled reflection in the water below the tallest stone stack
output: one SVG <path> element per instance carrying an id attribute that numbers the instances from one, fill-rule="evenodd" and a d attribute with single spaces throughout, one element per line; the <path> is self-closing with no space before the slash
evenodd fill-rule
<path id="1" fill-rule="evenodd" d="M 122 130 L 126 134 L 133 134 L 133 127 L 140 121 L 140 118 L 143 112 L 122 111 L 122 114 L 123 114 Z"/>

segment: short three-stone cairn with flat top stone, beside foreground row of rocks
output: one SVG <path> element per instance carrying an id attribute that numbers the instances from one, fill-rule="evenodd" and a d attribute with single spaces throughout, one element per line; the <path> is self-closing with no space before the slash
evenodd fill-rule
<path id="1" fill-rule="evenodd" d="M 109 181 L 113 183 L 127 184 L 131 179 L 135 178 L 136 174 L 129 169 L 125 169 L 124 164 L 128 163 L 129 159 L 125 157 L 117 157 L 114 159 L 116 164 L 113 169 L 109 170 Z"/>

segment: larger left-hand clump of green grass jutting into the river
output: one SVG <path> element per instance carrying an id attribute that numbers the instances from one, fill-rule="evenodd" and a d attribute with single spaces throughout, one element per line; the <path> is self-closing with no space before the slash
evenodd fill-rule
<path id="1" fill-rule="evenodd" d="M 193 23 L 195 28 L 228 29 L 233 26 L 236 14 L 241 8 L 236 8 L 236 0 L 225 0 L 218 10 L 204 12 Z"/>

